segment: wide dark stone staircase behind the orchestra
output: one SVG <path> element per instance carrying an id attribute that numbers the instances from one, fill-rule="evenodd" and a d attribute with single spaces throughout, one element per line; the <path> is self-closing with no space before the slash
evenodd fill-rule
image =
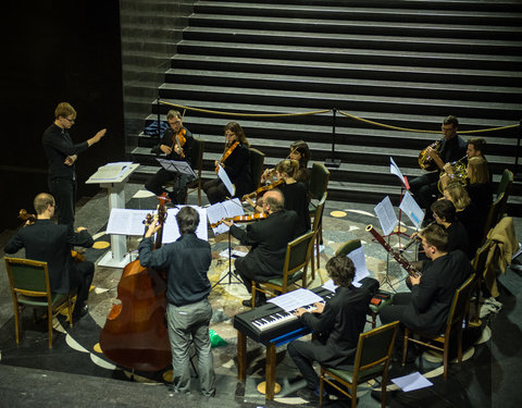
<path id="1" fill-rule="evenodd" d="M 177 53 L 159 89 L 163 102 L 229 113 L 187 110 L 185 125 L 206 140 L 204 175 L 223 151 L 223 126 L 237 121 L 252 145 L 275 164 L 288 145 L 306 140 L 312 160 L 335 157 L 330 198 L 376 203 L 400 186 L 393 157 L 409 177 L 422 174 L 417 157 L 440 134 L 448 114 L 460 131 L 518 125 L 522 108 L 522 3 L 519 1 L 196 1 Z M 150 106 L 146 122 L 169 106 Z M 265 118 L 260 114 L 313 115 Z M 332 110 L 336 111 L 334 114 Z M 349 114 L 350 116 L 345 115 Z M 356 118 L 389 126 L 381 127 Z M 144 123 L 145 124 L 145 123 Z M 474 136 L 488 141 L 498 183 L 515 171 L 519 127 Z M 470 134 L 462 134 L 464 138 Z M 128 137 L 128 136 L 127 136 Z M 148 136 L 137 137 L 136 177 L 158 166 Z M 522 213 L 514 186 L 510 211 Z"/>

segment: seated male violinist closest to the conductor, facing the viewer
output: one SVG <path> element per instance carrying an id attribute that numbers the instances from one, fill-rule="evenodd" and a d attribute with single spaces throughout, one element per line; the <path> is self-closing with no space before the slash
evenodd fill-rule
<path id="1" fill-rule="evenodd" d="M 159 145 L 152 148 L 157 156 L 166 154 L 166 159 L 175 161 L 186 161 L 190 164 L 194 137 L 189 129 L 183 126 L 183 118 L 178 111 L 170 110 L 166 113 L 169 127 L 166 128 Z M 164 185 L 169 181 L 174 181 L 173 191 L 169 193 L 169 198 L 173 203 L 185 202 L 185 186 L 191 181 L 191 175 L 179 174 L 175 171 L 169 171 L 161 168 L 158 173 L 151 176 L 146 183 L 145 188 L 161 196 L 164 191 Z"/>

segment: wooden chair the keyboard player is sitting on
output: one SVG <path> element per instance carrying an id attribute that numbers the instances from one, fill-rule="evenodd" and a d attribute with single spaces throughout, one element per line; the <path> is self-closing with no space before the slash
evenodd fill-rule
<path id="1" fill-rule="evenodd" d="M 361 333 L 357 344 L 352 370 L 338 370 L 321 367 L 319 406 L 323 405 L 324 382 L 351 399 L 351 407 L 357 407 L 357 385 L 371 379 L 382 376 L 381 406 L 386 407 L 386 385 L 388 368 L 394 350 L 395 336 L 399 322 L 393 322 L 370 332 Z M 347 390 L 343 390 L 341 386 Z"/>

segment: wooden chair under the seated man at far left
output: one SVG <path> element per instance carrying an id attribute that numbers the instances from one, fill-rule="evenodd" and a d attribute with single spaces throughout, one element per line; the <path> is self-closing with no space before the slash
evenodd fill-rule
<path id="1" fill-rule="evenodd" d="M 52 319 L 67 308 L 69 322 L 73 325 L 73 294 L 51 294 L 47 262 L 5 257 L 5 269 L 13 297 L 16 344 L 21 337 L 20 311 L 25 305 L 34 309 L 35 318 L 36 308 L 47 309 L 49 348 L 52 348 Z"/>

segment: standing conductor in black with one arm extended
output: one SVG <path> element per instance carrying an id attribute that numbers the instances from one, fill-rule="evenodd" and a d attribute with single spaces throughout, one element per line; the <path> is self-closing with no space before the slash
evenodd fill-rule
<path id="1" fill-rule="evenodd" d="M 76 160 L 78 154 L 94 144 L 100 141 L 107 129 L 80 144 L 74 144 L 69 129 L 76 121 L 76 111 L 67 102 L 61 102 L 54 110 L 54 122 L 46 132 L 41 141 L 49 161 L 49 191 L 57 200 L 58 222 L 74 224 L 74 207 L 76 203 Z"/>

